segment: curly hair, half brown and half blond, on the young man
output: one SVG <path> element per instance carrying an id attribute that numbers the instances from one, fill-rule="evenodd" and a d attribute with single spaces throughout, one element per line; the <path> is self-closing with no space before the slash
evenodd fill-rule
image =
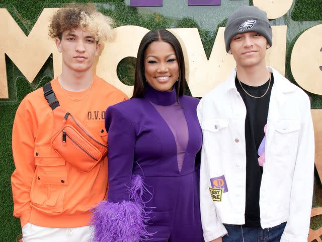
<path id="1" fill-rule="evenodd" d="M 61 40 L 65 30 L 79 27 L 94 34 L 96 41 L 107 41 L 112 38 L 113 20 L 98 12 L 93 4 L 70 5 L 59 9 L 49 25 L 49 36 Z"/>

